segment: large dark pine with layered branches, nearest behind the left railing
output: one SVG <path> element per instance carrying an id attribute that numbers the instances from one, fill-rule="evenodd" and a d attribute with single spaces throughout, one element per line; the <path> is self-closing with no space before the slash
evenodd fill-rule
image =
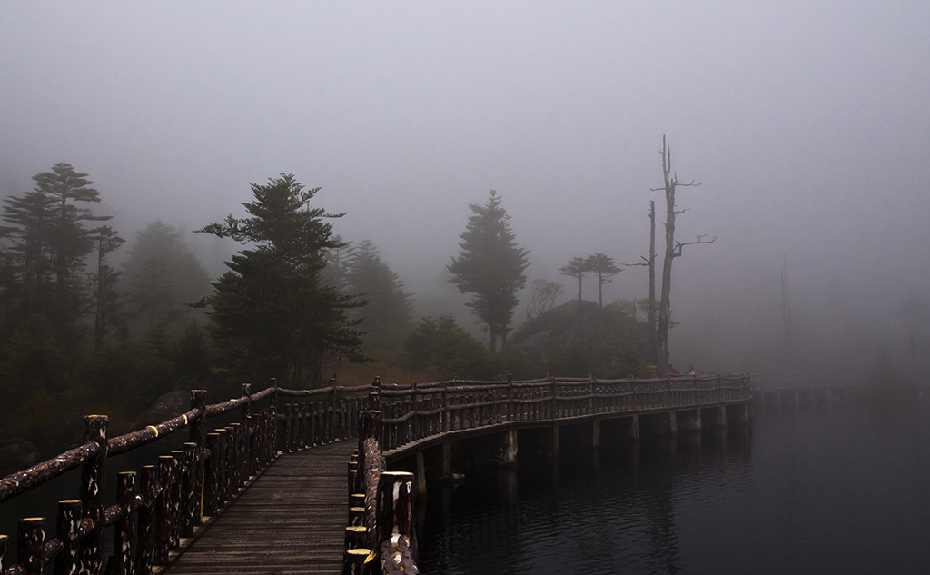
<path id="1" fill-rule="evenodd" d="M 346 311 L 357 303 L 326 285 L 324 252 L 337 247 L 327 214 L 311 207 L 319 188 L 290 174 L 251 184 L 248 217 L 227 216 L 198 232 L 249 246 L 227 261 L 213 283 L 210 333 L 231 365 L 253 381 L 291 385 L 320 380 L 326 354 L 358 359 L 361 335 Z"/>

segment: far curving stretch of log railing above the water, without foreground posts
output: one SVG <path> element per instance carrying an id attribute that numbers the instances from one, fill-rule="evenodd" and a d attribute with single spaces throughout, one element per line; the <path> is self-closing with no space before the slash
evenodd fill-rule
<path id="1" fill-rule="evenodd" d="M 376 382 L 377 384 L 377 382 Z M 750 399 L 749 376 L 546 378 L 380 385 L 381 448 L 503 423 L 711 406 Z"/>

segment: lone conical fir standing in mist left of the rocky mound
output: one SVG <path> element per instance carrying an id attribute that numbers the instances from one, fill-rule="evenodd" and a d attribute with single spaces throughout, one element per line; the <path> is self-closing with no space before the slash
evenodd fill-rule
<path id="1" fill-rule="evenodd" d="M 492 352 L 497 351 L 498 338 L 501 348 L 506 347 L 516 292 L 525 286 L 529 266 L 529 251 L 517 246 L 507 223 L 510 216 L 500 203 L 500 196 L 491 190 L 484 206 L 469 205 L 472 215 L 459 235 L 458 258 L 446 266 L 458 291 L 474 294 L 467 305 L 487 327 Z"/>

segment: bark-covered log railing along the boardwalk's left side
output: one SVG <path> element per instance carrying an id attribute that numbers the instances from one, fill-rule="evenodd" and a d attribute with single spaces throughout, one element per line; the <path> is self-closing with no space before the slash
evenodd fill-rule
<path id="1" fill-rule="evenodd" d="M 54 563 L 55 573 L 103 572 L 104 529 L 113 526 L 113 555 L 106 572 L 148 575 L 166 565 L 181 538 L 191 537 L 205 516 L 216 515 L 233 501 L 250 477 L 259 474 L 281 451 L 326 443 L 357 433 L 358 413 L 370 386 L 340 387 L 335 380 L 322 389 L 290 390 L 272 386 L 251 393 L 242 386 L 238 398 L 206 405 L 206 392 L 191 393 L 186 413 L 139 431 L 107 436 L 105 415 L 86 416 L 85 443 L 0 480 L 0 502 L 81 468 L 79 499 L 59 501 L 54 537 L 46 540 L 46 518 L 20 519 L 17 563 L 7 567 L 9 538 L 0 535 L 0 573 L 38 574 Z M 316 402 L 284 406 L 279 397 L 321 396 Z M 267 400 L 267 408 L 253 406 Z M 240 411 L 238 422 L 207 432 L 207 420 Z M 233 414 L 234 415 L 234 414 Z M 283 423 L 279 439 L 278 423 Z M 108 458 L 187 428 L 180 450 L 143 465 L 139 472 L 117 475 L 116 499 L 104 501 Z"/>

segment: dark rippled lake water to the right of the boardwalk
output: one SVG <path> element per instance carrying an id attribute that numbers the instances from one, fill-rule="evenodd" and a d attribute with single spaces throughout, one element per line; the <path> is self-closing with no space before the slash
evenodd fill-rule
<path id="1" fill-rule="evenodd" d="M 751 433 L 600 459 L 431 485 L 422 572 L 930 573 L 926 404 L 757 408 Z"/>

